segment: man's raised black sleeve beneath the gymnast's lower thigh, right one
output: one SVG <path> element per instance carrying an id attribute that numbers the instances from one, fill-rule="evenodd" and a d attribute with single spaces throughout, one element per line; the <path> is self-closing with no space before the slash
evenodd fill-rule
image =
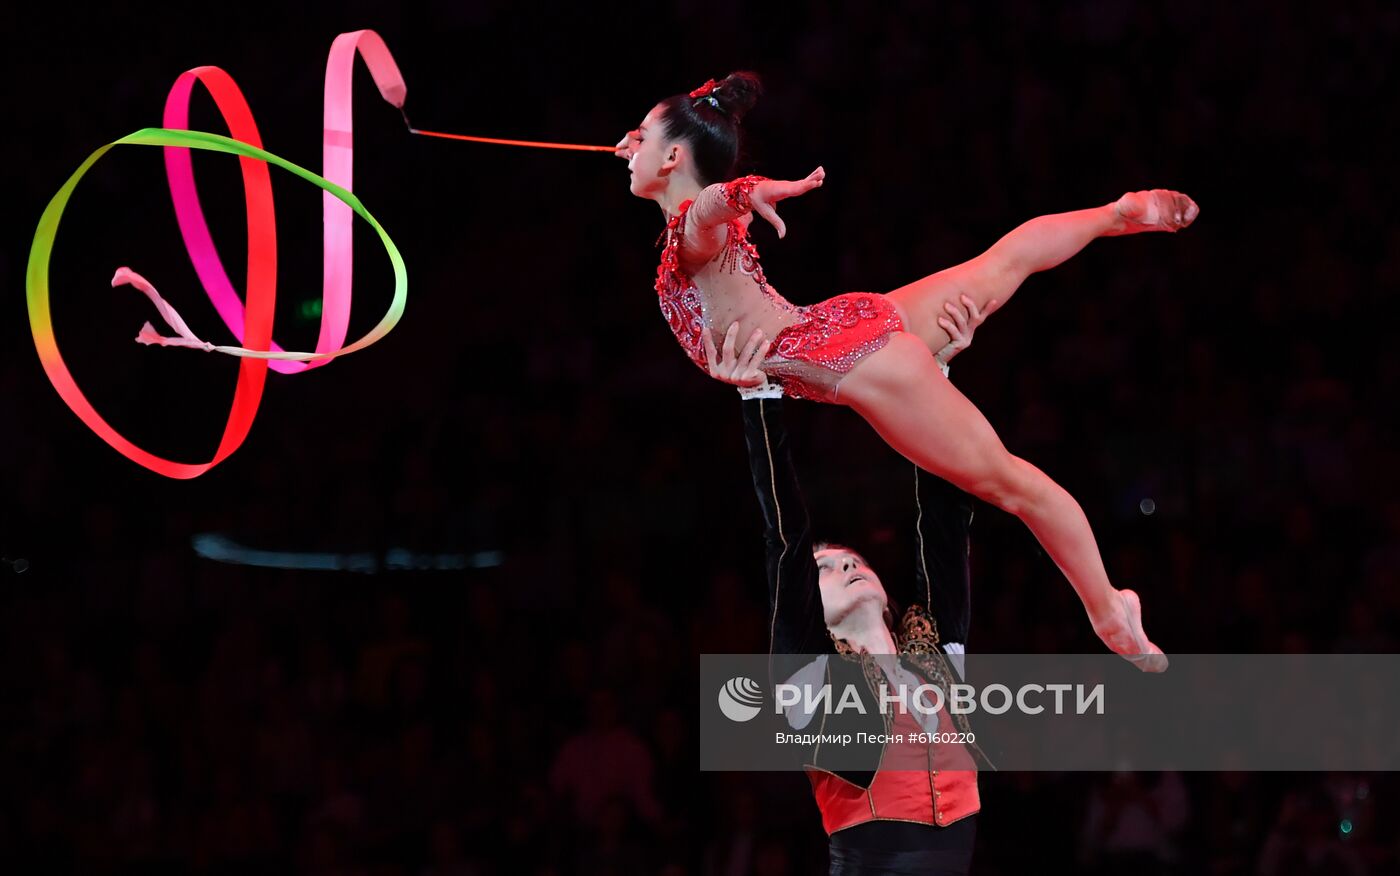
<path id="1" fill-rule="evenodd" d="M 972 497 L 914 467 L 914 593 L 938 623 L 941 642 L 967 644 L 972 623 Z"/>

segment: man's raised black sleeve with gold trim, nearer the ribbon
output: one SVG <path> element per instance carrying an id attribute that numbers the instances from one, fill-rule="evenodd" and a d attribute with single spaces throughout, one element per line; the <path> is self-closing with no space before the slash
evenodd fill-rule
<path id="1" fill-rule="evenodd" d="M 769 654 L 833 651 L 822 613 L 812 525 L 788 449 L 781 399 L 743 402 L 753 493 L 763 511 L 767 549 Z"/>

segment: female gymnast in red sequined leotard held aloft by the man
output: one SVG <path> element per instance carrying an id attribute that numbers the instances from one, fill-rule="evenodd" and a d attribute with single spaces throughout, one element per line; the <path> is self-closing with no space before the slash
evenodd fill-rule
<path id="1" fill-rule="evenodd" d="M 1184 228 L 1196 220 L 1196 203 L 1154 189 L 1042 216 L 980 256 L 892 292 L 795 306 L 769 285 L 748 227 L 757 213 L 784 236 L 774 204 L 816 189 L 826 174 L 734 178 L 739 125 L 759 92 L 752 73 L 710 80 L 657 104 L 617 144 L 633 195 L 657 202 L 666 217 L 657 294 L 682 348 L 706 369 L 706 333 L 738 323 L 748 343 L 763 350 L 763 371 L 787 395 L 854 409 L 920 467 L 1016 515 L 1070 579 L 1105 645 L 1138 669 L 1165 670 L 1166 656 L 1142 631 L 1137 593 L 1109 582 L 1078 502 L 1002 446 L 981 411 L 944 376 L 934 351 L 951 340 L 946 308 L 960 295 L 979 308 L 1005 304 L 1028 276 L 1095 238 Z"/>

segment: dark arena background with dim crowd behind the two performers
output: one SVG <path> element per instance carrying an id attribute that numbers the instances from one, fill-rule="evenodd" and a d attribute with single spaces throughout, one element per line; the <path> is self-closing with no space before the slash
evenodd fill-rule
<path id="1" fill-rule="evenodd" d="M 403 323 L 269 375 L 248 442 L 189 483 L 69 413 L 27 330 L 34 224 L 94 148 L 217 64 L 269 150 L 319 168 L 323 59 L 375 28 L 426 129 L 612 144 L 753 69 L 745 169 L 827 183 L 757 242 L 805 304 L 888 290 L 1042 213 L 1168 186 L 1180 235 L 1093 243 L 979 333 L 953 379 L 1079 498 L 1170 652 L 1394 651 L 1400 501 L 1400 11 L 1263 3 L 521 10 L 342 3 L 10 7 L 0 361 L 0 849 L 27 872 L 806 873 L 792 774 L 700 775 L 701 652 L 764 648 L 738 402 L 652 301 L 661 229 L 608 155 L 433 141 L 357 70 L 356 192 L 409 266 Z M 196 94 L 196 126 L 220 127 Z M 241 276 L 234 161 L 196 155 Z M 274 171 L 277 339 L 315 343 L 321 193 Z M 388 302 L 360 227 L 356 318 Z M 216 343 L 157 150 L 111 153 L 53 259 L 59 343 L 137 444 L 207 459 L 235 365 L 130 341 L 144 273 Z M 907 463 L 846 409 L 794 404 L 819 533 L 907 574 Z M 1155 512 L 1144 514 L 1152 500 Z M 265 550 L 452 554 L 458 571 L 211 563 Z M 974 523 L 970 648 L 1100 645 L 1023 528 Z M 981 777 L 977 873 L 1394 872 L 1393 775 Z M 1344 828 L 1350 826 L 1350 833 Z"/>

